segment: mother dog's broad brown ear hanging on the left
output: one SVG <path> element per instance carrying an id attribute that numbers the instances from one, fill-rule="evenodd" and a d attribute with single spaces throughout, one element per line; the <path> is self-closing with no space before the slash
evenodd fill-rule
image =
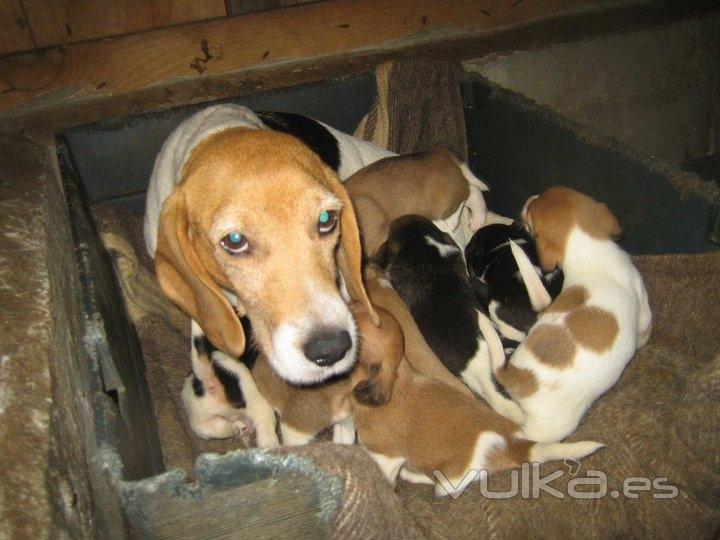
<path id="1" fill-rule="evenodd" d="M 233 356 L 245 351 L 245 333 L 235 310 L 203 267 L 188 238 L 185 196 L 176 190 L 163 204 L 158 226 L 155 275 L 163 292 L 197 321 L 210 341 Z"/>

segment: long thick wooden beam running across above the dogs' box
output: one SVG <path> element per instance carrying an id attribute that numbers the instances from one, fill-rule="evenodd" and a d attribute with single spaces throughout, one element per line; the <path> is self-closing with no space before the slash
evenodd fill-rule
<path id="1" fill-rule="evenodd" d="M 646 0 L 305 4 L 2 58 L 0 120 L 42 123 L 54 111 L 51 125 L 73 125 L 370 69 L 408 51 L 468 58 L 668 13 Z"/>

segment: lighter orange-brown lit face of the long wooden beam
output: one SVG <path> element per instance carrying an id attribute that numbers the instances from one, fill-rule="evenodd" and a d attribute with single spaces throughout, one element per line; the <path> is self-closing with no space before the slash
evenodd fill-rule
<path id="1" fill-rule="evenodd" d="M 258 64 L 444 39 L 551 17 L 604 0 L 337 0 L 197 23 L 0 61 L 0 110 L 53 93 L 72 99 L 130 92 L 170 79 Z M 438 31 L 442 31 L 439 33 Z"/>

